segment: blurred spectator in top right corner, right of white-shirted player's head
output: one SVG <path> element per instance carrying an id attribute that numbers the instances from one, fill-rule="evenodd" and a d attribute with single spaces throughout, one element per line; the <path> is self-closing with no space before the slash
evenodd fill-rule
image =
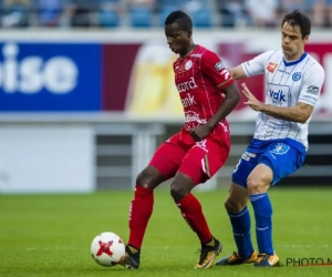
<path id="1" fill-rule="evenodd" d="M 332 0 L 312 0 L 312 12 L 317 27 L 332 27 Z"/>

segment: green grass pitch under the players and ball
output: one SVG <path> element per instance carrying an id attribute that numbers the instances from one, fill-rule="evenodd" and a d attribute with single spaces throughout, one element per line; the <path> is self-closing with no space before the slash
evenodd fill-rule
<path id="1" fill-rule="evenodd" d="M 227 189 L 198 193 L 212 234 L 235 250 L 224 208 Z M 90 256 L 95 235 L 111 230 L 127 239 L 132 192 L 90 195 L 0 195 L 0 276 L 332 276 L 332 266 L 286 266 L 287 258 L 332 259 L 332 189 L 272 188 L 273 239 L 282 267 L 193 269 L 199 243 L 165 189 L 155 192 L 154 214 L 142 249 L 141 268 L 105 268 Z M 251 218 L 252 218 L 252 209 Z M 253 225 L 253 222 L 252 222 Z M 255 240 L 255 229 L 252 232 Z M 256 243 L 255 243 L 256 245 Z"/>

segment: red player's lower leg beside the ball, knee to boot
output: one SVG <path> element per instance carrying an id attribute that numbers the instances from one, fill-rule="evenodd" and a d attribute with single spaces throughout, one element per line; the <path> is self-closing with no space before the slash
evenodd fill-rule
<path id="1" fill-rule="evenodd" d="M 141 247 L 153 213 L 153 192 L 162 182 L 164 182 L 163 175 L 153 166 L 147 166 L 136 178 L 135 195 L 129 209 L 129 239 L 126 245 L 126 255 L 118 263 L 127 269 L 139 267 Z"/>

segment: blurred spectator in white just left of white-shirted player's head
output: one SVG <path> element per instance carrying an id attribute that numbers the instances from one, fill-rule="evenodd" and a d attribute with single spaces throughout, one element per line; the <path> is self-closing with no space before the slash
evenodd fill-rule
<path id="1" fill-rule="evenodd" d="M 276 27 L 278 0 L 246 0 L 245 6 L 256 27 Z"/>

